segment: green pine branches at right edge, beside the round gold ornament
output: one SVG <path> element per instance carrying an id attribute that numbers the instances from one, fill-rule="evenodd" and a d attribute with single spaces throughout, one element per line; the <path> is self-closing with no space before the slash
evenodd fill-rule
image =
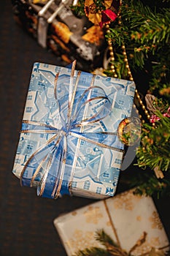
<path id="1" fill-rule="evenodd" d="M 136 151 L 137 164 L 142 171 L 131 180 L 131 186 L 147 195 L 170 195 L 170 118 L 156 112 L 161 119 L 152 124 L 143 124 L 141 145 Z M 163 172 L 163 178 L 155 176 L 155 170 Z"/>

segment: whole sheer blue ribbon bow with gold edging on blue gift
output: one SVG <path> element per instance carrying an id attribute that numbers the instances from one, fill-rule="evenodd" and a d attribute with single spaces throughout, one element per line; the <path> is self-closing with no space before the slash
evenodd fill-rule
<path id="1" fill-rule="evenodd" d="M 112 108 L 107 94 L 100 86 L 93 85 L 95 75 L 91 75 L 88 89 L 77 92 L 81 72 L 78 71 L 74 79 L 75 65 L 76 61 L 72 63 L 69 85 L 67 85 L 69 86 L 68 96 L 67 94 L 64 96 L 67 97 L 67 107 L 65 101 L 61 102 L 61 99 L 58 99 L 59 73 L 55 75 L 54 97 L 58 110 L 56 111 L 57 123 L 49 125 L 39 121 L 23 120 L 21 133 L 47 136 L 45 143 L 42 143 L 25 162 L 20 174 L 20 184 L 36 186 L 39 196 L 57 198 L 62 194 L 71 194 L 74 170 L 77 162 L 83 162 L 82 153 L 79 151 L 82 140 L 94 146 L 123 152 L 121 143 L 117 147 L 113 146 L 117 133 L 101 129 L 100 121 L 109 116 Z M 96 112 L 92 112 L 92 108 L 97 109 Z M 87 127 L 90 128 L 87 129 Z M 95 127 L 95 132 L 93 129 L 90 130 L 91 127 Z M 48 138 L 48 136 L 51 137 Z M 77 140 L 75 148 L 72 138 Z M 72 155 L 71 164 L 70 155 Z"/>

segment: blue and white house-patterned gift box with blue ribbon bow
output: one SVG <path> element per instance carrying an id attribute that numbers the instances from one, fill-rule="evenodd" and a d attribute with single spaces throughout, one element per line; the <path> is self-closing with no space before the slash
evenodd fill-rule
<path id="1" fill-rule="evenodd" d="M 133 81 L 35 63 L 12 172 L 42 197 L 113 196 L 134 92 Z"/>

